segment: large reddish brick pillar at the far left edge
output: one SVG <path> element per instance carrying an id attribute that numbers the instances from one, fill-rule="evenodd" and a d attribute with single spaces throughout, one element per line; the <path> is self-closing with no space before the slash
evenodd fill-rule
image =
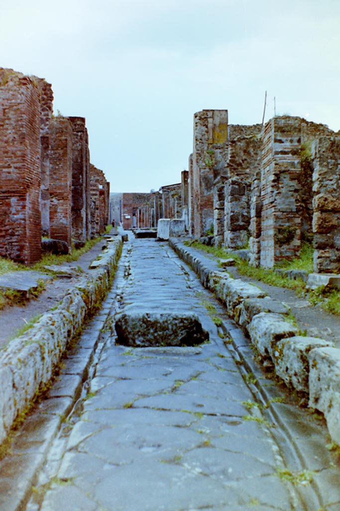
<path id="1" fill-rule="evenodd" d="M 40 104 L 37 84 L 0 68 L 0 255 L 41 257 Z"/>

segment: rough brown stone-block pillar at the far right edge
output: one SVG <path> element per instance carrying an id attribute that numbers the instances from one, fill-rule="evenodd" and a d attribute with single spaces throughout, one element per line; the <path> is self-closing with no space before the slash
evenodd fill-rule
<path id="1" fill-rule="evenodd" d="M 313 146 L 314 271 L 340 271 L 340 136 L 323 136 Z"/>

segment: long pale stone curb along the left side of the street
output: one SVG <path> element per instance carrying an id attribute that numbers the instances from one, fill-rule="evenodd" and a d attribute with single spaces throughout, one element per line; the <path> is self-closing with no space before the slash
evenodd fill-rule
<path id="1" fill-rule="evenodd" d="M 97 261 L 93 277 L 70 289 L 57 309 L 44 314 L 30 330 L 12 340 L 1 352 L 0 443 L 9 433 L 17 414 L 27 408 L 39 388 L 49 382 L 67 342 L 109 289 L 110 275 L 117 265 L 121 245 L 119 238 L 110 242 Z"/>

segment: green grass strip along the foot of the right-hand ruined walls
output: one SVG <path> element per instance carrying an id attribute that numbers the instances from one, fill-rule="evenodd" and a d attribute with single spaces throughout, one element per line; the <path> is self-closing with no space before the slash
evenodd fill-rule
<path id="1" fill-rule="evenodd" d="M 340 290 L 338 288 L 320 286 L 316 290 L 307 291 L 306 285 L 301 279 L 293 280 L 275 272 L 275 269 L 280 268 L 285 270 L 304 270 L 308 273 L 312 273 L 313 247 L 306 242 L 302 243 L 300 257 L 284 261 L 280 265 L 277 265 L 274 270 L 266 270 L 264 268 L 251 266 L 247 261 L 243 261 L 237 255 L 228 252 L 228 250 L 203 245 L 203 243 L 200 243 L 197 240 L 186 241 L 185 244 L 206 253 L 210 253 L 220 259 L 232 258 L 236 262 L 241 275 L 248 276 L 257 281 L 265 282 L 271 286 L 294 289 L 299 296 L 306 296 L 311 305 L 320 305 L 327 312 L 340 315 Z"/>

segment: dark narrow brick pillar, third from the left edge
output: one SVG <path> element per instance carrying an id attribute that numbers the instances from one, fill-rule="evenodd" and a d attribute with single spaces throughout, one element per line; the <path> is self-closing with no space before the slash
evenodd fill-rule
<path id="1" fill-rule="evenodd" d="M 72 124 L 72 238 L 83 243 L 90 236 L 89 148 L 85 118 L 69 117 Z"/>

